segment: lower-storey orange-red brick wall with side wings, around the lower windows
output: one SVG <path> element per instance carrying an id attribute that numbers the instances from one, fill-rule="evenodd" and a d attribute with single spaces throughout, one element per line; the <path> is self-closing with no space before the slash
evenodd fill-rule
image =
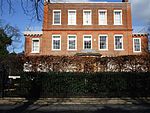
<path id="1" fill-rule="evenodd" d="M 60 34 L 61 35 L 61 50 L 53 51 L 52 50 L 52 35 Z M 77 50 L 70 51 L 67 50 L 67 35 L 76 35 L 77 36 Z M 147 48 L 147 36 L 146 35 L 133 35 L 130 31 L 45 31 L 43 36 L 26 36 L 26 55 L 74 55 L 80 53 L 83 50 L 83 35 L 92 35 L 92 49 L 97 53 L 102 54 L 103 56 L 118 56 L 118 55 L 132 55 L 132 54 L 141 54 L 133 52 L 133 38 L 141 38 L 142 52 Z M 100 34 L 108 35 L 108 51 L 102 51 L 98 48 L 98 36 Z M 114 35 L 122 34 L 123 35 L 123 49 L 124 50 L 114 50 Z M 130 38 L 131 37 L 131 38 Z M 32 38 L 40 38 L 40 53 L 31 53 L 32 48 Z"/>

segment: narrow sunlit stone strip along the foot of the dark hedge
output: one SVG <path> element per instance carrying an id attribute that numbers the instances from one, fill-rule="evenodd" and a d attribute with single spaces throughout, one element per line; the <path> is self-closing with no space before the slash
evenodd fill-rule
<path id="1" fill-rule="evenodd" d="M 20 104 L 31 101 L 39 105 L 57 105 L 57 104 L 100 104 L 100 105 L 132 105 L 147 103 L 150 104 L 150 97 L 145 98 L 39 98 L 38 100 L 26 100 L 25 98 L 0 98 L 2 104 Z"/>

